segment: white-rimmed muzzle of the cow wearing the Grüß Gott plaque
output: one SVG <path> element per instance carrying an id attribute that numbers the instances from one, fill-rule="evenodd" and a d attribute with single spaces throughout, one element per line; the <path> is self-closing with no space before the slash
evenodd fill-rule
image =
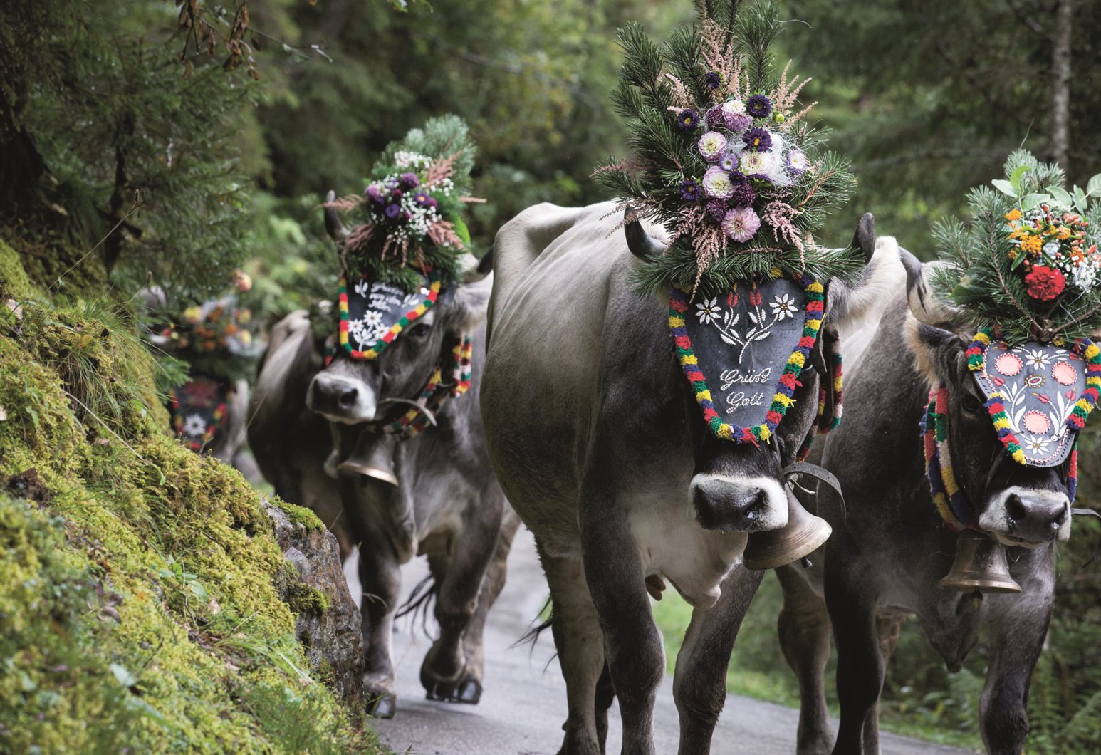
<path id="1" fill-rule="evenodd" d="M 704 529 L 753 533 L 787 524 L 787 495 L 770 478 L 696 474 L 688 488 L 688 516 Z"/>

